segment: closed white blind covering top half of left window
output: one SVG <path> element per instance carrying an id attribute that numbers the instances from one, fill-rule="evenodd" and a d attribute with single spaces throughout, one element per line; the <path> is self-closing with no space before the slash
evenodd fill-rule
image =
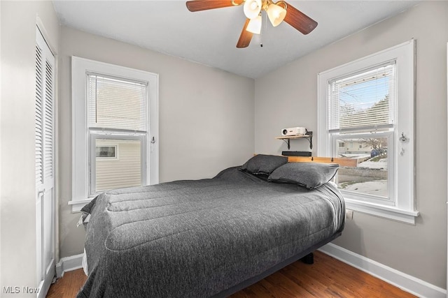
<path id="1" fill-rule="evenodd" d="M 147 84 L 87 74 L 90 128 L 147 131 Z"/>

